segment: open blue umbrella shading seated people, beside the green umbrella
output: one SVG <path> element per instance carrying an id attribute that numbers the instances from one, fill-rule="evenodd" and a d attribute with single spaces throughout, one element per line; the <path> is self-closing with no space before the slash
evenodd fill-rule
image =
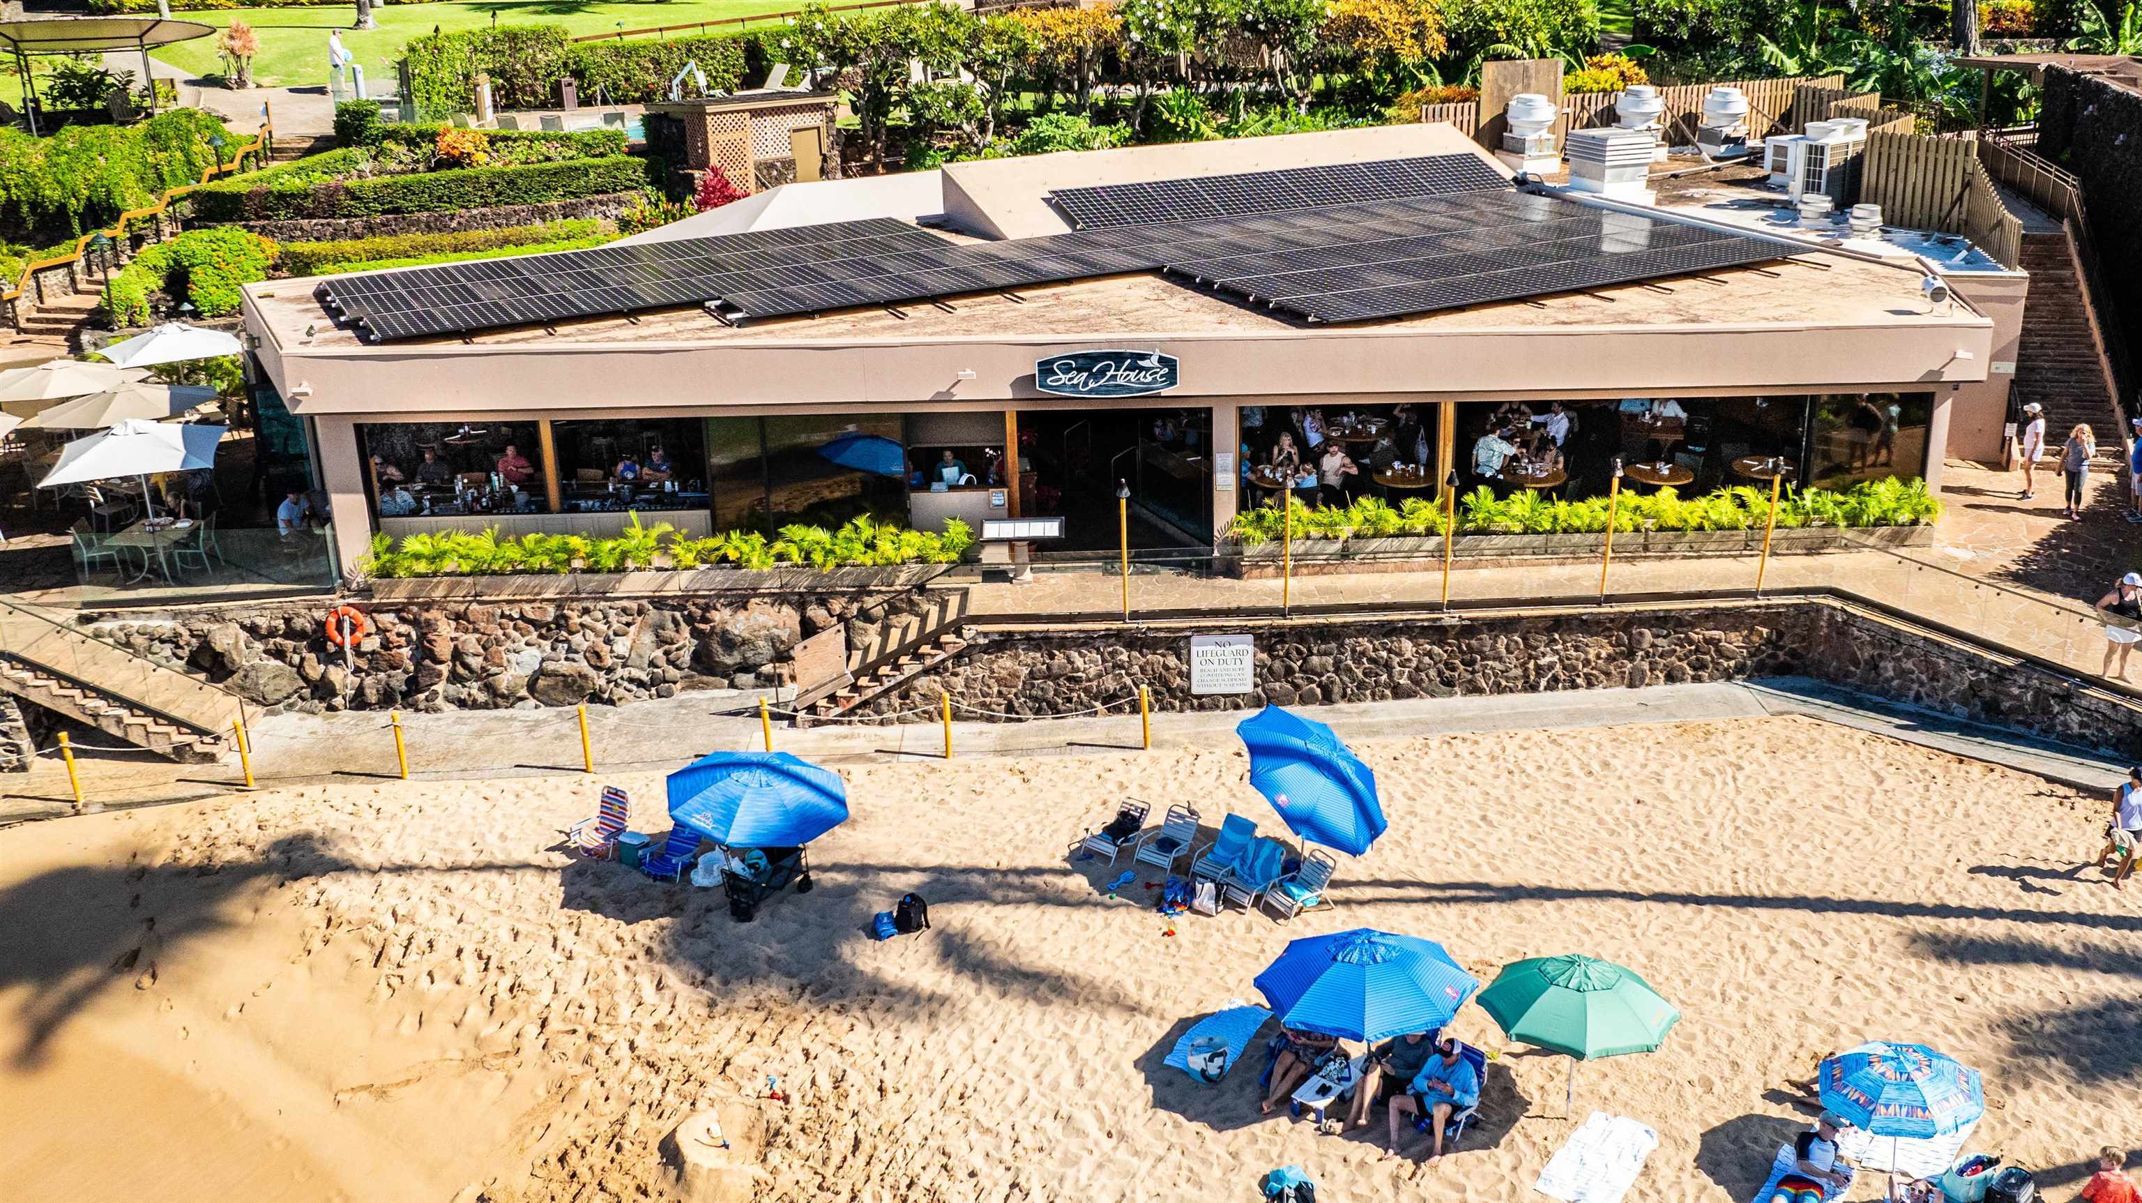
<path id="1" fill-rule="evenodd" d="M 1480 983 L 1433 940 L 1356 927 L 1287 944 L 1257 989 L 1287 1027 L 1375 1042 L 1435 1032 Z"/>

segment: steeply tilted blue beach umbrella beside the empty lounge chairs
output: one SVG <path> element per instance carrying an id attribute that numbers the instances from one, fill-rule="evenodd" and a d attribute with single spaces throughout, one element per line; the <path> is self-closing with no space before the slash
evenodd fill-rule
<path id="1" fill-rule="evenodd" d="M 1249 747 L 1249 783 L 1309 843 L 1360 856 L 1390 826 L 1369 771 L 1332 728 L 1279 706 L 1236 724 Z"/>

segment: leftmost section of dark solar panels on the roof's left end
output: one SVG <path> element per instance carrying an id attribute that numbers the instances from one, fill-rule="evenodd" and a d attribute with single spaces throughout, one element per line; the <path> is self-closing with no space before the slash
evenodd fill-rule
<path id="1" fill-rule="evenodd" d="M 743 287 L 808 285 L 842 272 L 842 263 L 940 246 L 951 244 L 927 229 L 870 218 L 364 272 L 334 276 L 315 295 L 364 338 L 418 338 L 703 304 Z"/>

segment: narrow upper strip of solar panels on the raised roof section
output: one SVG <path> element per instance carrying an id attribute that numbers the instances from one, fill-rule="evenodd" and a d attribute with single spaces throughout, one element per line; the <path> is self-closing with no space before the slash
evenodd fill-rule
<path id="1" fill-rule="evenodd" d="M 1450 193 L 1506 191 L 1508 180 L 1478 154 L 1429 154 L 1420 158 L 1377 158 L 1373 163 L 1330 163 L 1240 176 L 1191 176 L 1150 184 L 1101 184 L 1050 193 L 1056 208 L 1077 229 L 1155 225 L 1215 216 L 1272 214 L 1388 201 L 1397 197 L 1442 197 Z"/>

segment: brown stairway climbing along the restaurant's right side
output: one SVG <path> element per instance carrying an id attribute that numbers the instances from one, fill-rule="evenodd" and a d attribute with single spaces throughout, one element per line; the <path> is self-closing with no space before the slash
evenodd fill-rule
<path id="1" fill-rule="evenodd" d="M 2097 458 L 2121 456 L 2118 411 L 2106 385 L 2103 345 L 2082 298 L 2082 278 L 2067 229 L 2022 238 L 2022 268 L 2031 272 L 2022 347 L 2016 351 L 2016 405 L 2046 407 L 2046 450 L 2067 441 L 2086 422 L 2097 435 Z"/>

